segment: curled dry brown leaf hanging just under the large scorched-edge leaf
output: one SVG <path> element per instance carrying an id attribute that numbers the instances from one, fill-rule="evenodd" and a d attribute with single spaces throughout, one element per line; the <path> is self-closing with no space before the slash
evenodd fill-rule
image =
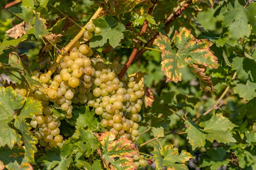
<path id="1" fill-rule="evenodd" d="M 201 85 L 201 89 L 204 92 L 216 91 L 213 88 L 211 77 L 205 75 L 206 67 L 203 65 L 189 64 L 188 68 L 198 77 Z"/>

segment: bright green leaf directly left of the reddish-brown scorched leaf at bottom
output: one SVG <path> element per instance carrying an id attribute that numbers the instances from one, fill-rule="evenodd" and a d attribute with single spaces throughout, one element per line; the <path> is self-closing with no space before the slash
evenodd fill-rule
<path id="1" fill-rule="evenodd" d="M 76 133 L 73 136 L 76 136 L 81 142 L 85 143 L 85 151 L 87 157 L 89 157 L 93 152 L 99 148 L 99 142 L 97 138 L 93 135 L 92 131 L 84 130 L 81 127 L 76 127 Z"/>

